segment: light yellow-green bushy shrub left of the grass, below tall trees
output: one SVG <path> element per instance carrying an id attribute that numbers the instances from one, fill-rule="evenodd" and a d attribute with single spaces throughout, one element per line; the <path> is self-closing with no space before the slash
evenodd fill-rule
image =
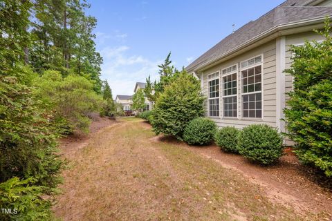
<path id="1" fill-rule="evenodd" d="M 90 119 L 87 117 L 93 111 L 99 111 L 101 98 L 93 91 L 93 84 L 85 77 L 78 75 L 62 75 L 55 70 L 47 70 L 41 77 L 35 79 L 36 97 L 42 101 L 50 113 L 53 112 L 53 122 L 61 133 L 79 131 L 89 132 Z"/>

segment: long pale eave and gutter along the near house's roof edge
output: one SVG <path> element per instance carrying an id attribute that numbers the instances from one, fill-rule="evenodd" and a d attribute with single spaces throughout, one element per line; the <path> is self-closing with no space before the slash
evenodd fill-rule
<path id="1" fill-rule="evenodd" d="M 329 17 L 331 18 L 332 16 L 329 15 Z M 284 23 L 284 24 L 280 24 L 278 26 L 274 26 L 273 28 L 270 28 L 268 30 L 266 30 L 265 32 L 262 32 L 260 35 L 257 35 L 257 37 L 250 39 L 249 41 L 246 41 L 245 43 L 237 46 L 236 48 L 234 48 L 233 50 L 230 50 L 228 52 L 226 52 L 225 54 L 216 57 L 208 62 L 205 62 L 199 66 L 194 66 L 190 69 L 187 69 L 187 72 L 195 72 L 198 73 L 199 71 L 206 69 L 208 66 L 213 66 L 216 62 L 218 62 L 221 59 L 225 59 L 226 57 L 232 55 L 234 52 L 237 52 L 243 48 L 246 48 L 248 46 L 250 46 L 251 44 L 255 44 L 257 41 L 260 41 L 261 39 L 264 39 L 265 37 L 268 37 L 269 35 L 273 35 L 276 34 L 278 32 L 280 32 L 281 35 L 279 36 L 283 36 L 284 34 L 282 33 L 282 30 L 287 30 L 287 29 L 291 29 L 291 28 L 299 28 L 301 26 L 310 26 L 310 25 L 314 25 L 317 23 L 322 23 L 322 21 L 324 21 L 326 19 L 326 16 L 321 16 L 321 17 L 316 17 L 313 19 L 305 19 L 302 21 L 296 21 L 296 22 L 291 22 L 291 23 Z M 291 33 L 287 33 L 287 35 L 290 35 Z M 279 37 L 278 35 L 276 37 Z"/>

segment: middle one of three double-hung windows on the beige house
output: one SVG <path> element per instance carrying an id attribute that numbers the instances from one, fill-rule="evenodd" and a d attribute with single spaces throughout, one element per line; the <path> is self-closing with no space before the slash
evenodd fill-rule
<path id="1" fill-rule="evenodd" d="M 222 70 L 223 117 L 237 117 L 237 65 Z"/>

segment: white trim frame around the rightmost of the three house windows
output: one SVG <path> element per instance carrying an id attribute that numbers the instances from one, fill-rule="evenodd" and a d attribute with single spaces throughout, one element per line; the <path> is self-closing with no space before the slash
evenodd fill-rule
<path id="1" fill-rule="evenodd" d="M 250 59 L 253 59 L 255 57 L 261 56 L 261 62 L 257 64 L 252 64 L 250 66 L 246 66 L 245 68 L 241 68 L 241 63 L 243 61 L 248 61 Z M 255 57 L 250 57 L 249 59 L 245 59 L 243 61 L 240 61 L 240 68 L 239 68 L 239 77 L 240 79 L 240 104 L 241 104 L 241 110 L 240 110 L 240 119 L 246 119 L 246 120 L 264 120 L 264 56 L 263 54 L 261 55 L 256 55 Z M 249 68 L 255 68 L 257 66 L 261 66 L 261 117 L 243 117 L 243 104 L 242 104 L 242 70 L 247 70 Z M 255 92 L 250 92 L 250 93 L 244 93 L 245 95 L 250 95 L 250 94 L 255 94 L 258 93 L 257 91 Z"/>

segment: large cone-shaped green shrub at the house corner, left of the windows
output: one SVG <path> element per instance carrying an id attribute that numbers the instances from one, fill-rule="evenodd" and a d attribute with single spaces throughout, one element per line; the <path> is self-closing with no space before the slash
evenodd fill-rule
<path id="1" fill-rule="evenodd" d="M 203 115 L 203 101 L 199 81 L 183 71 L 156 100 L 151 122 L 153 131 L 182 140 L 185 126 Z"/>

